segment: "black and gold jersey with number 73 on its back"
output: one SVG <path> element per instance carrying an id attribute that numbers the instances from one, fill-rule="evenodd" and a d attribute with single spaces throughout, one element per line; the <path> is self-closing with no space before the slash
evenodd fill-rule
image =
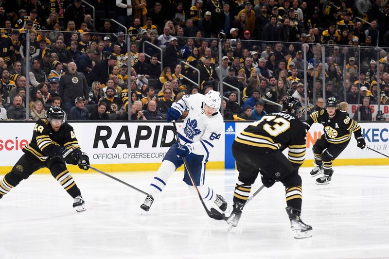
<path id="1" fill-rule="evenodd" d="M 296 167 L 304 162 L 307 131 L 294 115 L 282 111 L 265 115 L 250 124 L 234 140 L 232 146 L 264 154 L 288 147 L 288 159 Z"/>

